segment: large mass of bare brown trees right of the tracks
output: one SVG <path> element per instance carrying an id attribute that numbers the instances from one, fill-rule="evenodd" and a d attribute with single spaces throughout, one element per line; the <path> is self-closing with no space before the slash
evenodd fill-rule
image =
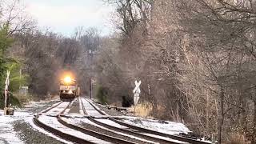
<path id="1" fill-rule="evenodd" d="M 254 0 L 108 0 L 121 36 L 96 58 L 110 102 L 150 102 L 157 118 L 185 122 L 218 143 L 256 142 Z"/>

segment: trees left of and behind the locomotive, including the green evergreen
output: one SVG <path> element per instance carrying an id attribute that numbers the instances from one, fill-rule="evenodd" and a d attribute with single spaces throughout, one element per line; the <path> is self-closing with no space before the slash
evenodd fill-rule
<path id="1" fill-rule="evenodd" d="M 2 1 L 0 5 L 1 94 L 6 70 L 10 70 L 10 93 L 16 98 L 22 98 L 18 93 L 20 86 L 28 86 L 34 98 L 58 94 L 63 70 L 73 71 L 82 93 L 88 94 L 92 54 L 101 41 L 99 31 L 78 26 L 68 38 L 50 29 L 38 28 L 18 0 Z M 2 101 L 0 103 L 2 107 Z"/>

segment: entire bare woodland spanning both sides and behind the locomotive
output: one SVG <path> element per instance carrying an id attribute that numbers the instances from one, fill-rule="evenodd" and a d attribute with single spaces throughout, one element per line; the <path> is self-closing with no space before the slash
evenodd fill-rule
<path id="1" fill-rule="evenodd" d="M 184 122 L 219 143 L 256 142 L 256 1 L 104 1 L 116 7 L 118 31 L 103 37 L 77 27 L 70 38 L 11 13 L 22 11 L 13 1 L 1 18 L 2 86 L 12 59 L 39 98 L 58 92 L 66 67 L 83 94 L 95 78 L 94 95 L 110 104 L 132 104 L 141 80 L 139 103 L 149 103 L 155 118 Z"/>

